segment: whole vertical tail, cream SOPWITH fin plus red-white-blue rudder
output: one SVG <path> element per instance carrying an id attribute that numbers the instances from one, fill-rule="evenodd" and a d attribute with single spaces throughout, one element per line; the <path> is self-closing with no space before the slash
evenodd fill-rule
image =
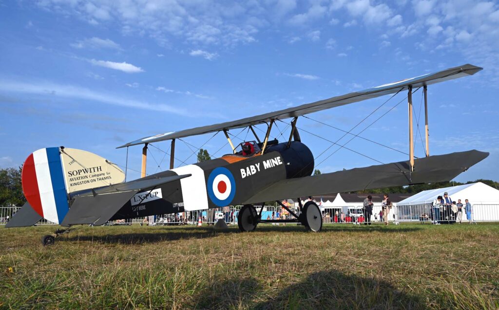
<path id="1" fill-rule="evenodd" d="M 69 210 L 69 193 L 123 182 L 125 173 L 90 152 L 46 148 L 33 152 L 22 167 L 22 190 L 41 217 L 60 224 Z"/>

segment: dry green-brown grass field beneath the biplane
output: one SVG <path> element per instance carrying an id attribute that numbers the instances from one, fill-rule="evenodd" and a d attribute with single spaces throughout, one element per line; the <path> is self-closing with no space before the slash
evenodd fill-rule
<path id="1" fill-rule="evenodd" d="M 499 224 L 0 228 L 0 309 L 499 309 Z"/>

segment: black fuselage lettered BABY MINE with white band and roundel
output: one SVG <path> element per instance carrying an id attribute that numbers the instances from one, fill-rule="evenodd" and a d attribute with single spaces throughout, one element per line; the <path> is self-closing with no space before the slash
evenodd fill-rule
<path id="1" fill-rule="evenodd" d="M 149 175 L 144 179 L 188 175 L 137 193 L 113 219 L 134 218 L 237 205 L 258 191 L 286 178 L 311 175 L 314 158 L 307 146 L 277 143 L 261 155 L 224 155 Z"/>

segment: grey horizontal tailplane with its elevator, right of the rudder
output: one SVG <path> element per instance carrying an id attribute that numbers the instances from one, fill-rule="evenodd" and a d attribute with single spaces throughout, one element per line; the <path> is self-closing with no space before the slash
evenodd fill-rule
<path id="1" fill-rule="evenodd" d="M 76 195 L 61 226 L 78 224 L 103 225 L 137 192 L 189 176 L 191 174 L 139 179 Z"/>

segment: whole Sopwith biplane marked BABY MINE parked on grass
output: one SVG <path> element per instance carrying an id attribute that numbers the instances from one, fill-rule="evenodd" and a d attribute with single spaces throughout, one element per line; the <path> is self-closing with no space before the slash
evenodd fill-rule
<path id="1" fill-rule="evenodd" d="M 115 219 L 243 205 L 238 214 L 241 231 L 253 231 L 258 223 L 284 221 L 301 223 L 306 230 L 318 232 L 322 216 L 314 201 L 299 203 L 298 211 L 294 212 L 281 200 L 448 181 L 486 158 L 488 153 L 476 150 L 430 156 L 428 147 L 427 87 L 474 75 L 480 70 L 481 67 L 465 64 L 237 121 L 145 137 L 118 147 L 143 145 L 142 177 L 133 181 L 124 182 L 124 173 L 116 164 L 89 152 L 63 147 L 37 150 L 28 156 L 22 169 L 27 202 L 6 227 L 31 226 L 42 218 L 65 227 L 54 235 L 44 236 L 42 242 L 46 245 L 76 225 L 103 225 Z M 419 88 L 423 88 L 425 98 L 426 156 L 415 158 L 412 94 Z M 311 175 L 314 156 L 301 141 L 296 127 L 299 117 L 400 92 L 407 92 L 409 107 L 408 160 Z M 284 119 L 291 120 L 289 139 L 271 140 L 272 126 Z M 267 126 L 265 136 L 258 137 L 253 127 L 263 124 Z M 251 130 L 254 141 L 235 146 L 228 132 L 238 128 Z M 225 134 L 232 148 L 230 154 L 174 168 L 176 139 L 217 132 Z M 146 175 L 148 145 L 168 140 L 171 141 L 170 170 Z M 263 201 L 276 201 L 292 219 L 262 219 L 263 208 L 258 212 L 254 205 Z"/>

